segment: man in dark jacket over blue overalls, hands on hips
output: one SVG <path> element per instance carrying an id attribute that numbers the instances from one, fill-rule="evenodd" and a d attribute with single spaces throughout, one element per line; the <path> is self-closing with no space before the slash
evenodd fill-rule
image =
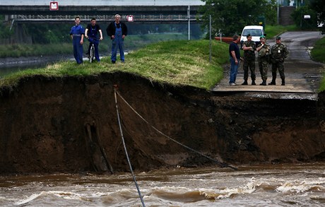
<path id="1" fill-rule="evenodd" d="M 106 28 L 107 35 L 112 40 L 111 60 L 113 64 L 117 61 L 117 48 L 119 49 L 120 59 L 124 62 L 124 37 L 127 35 L 127 27 L 120 19 L 119 14 L 115 15 L 114 22 L 110 23 Z"/>

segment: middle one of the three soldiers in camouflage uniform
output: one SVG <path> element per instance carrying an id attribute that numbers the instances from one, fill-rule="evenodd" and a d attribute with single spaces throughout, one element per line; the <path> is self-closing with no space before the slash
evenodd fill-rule
<path id="1" fill-rule="evenodd" d="M 268 78 L 268 55 L 271 53 L 270 45 L 266 43 L 264 35 L 259 37 L 261 43 L 257 45 L 256 51 L 259 52 L 257 61 L 259 61 L 259 72 L 261 73 L 262 83 L 259 85 L 266 85 Z"/>

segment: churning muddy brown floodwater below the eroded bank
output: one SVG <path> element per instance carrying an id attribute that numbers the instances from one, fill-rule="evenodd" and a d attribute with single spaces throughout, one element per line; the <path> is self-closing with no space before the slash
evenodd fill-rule
<path id="1" fill-rule="evenodd" d="M 324 206 L 325 163 L 136 173 L 146 206 Z M 0 206 L 142 206 L 131 173 L 0 177 Z"/>

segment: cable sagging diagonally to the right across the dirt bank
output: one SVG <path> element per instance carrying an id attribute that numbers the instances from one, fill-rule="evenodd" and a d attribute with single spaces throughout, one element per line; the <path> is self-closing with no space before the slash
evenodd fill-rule
<path id="1" fill-rule="evenodd" d="M 141 116 L 141 114 L 136 112 L 136 110 L 134 110 L 134 108 L 131 107 L 131 105 L 129 105 L 129 103 L 124 99 L 124 97 L 122 97 L 122 95 L 117 90 L 115 90 L 115 93 L 117 95 L 119 95 L 119 97 L 121 97 L 121 99 L 126 103 L 126 105 L 128 105 L 131 108 L 131 110 L 134 111 L 134 113 L 136 113 L 138 115 L 138 117 L 140 117 L 143 120 L 143 122 L 146 122 L 148 125 L 150 125 L 149 122 Z M 171 141 L 174 141 L 175 143 L 178 143 L 180 146 L 183 146 L 184 148 L 187 148 L 187 149 L 193 151 L 194 153 L 197 153 L 197 154 L 203 156 L 204 158 L 208 158 L 209 160 L 212 160 L 213 162 L 216 162 L 218 165 L 220 165 L 222 167 L 230 167 L 233 170 L 237 170 L 236 167 L 232 167 L 230 165 L 227 165 L 224 162 L 220 162 L 218 160 L 215 160 L 213 158 L 208 157 L 207 155 L 203 155 L 203 153 L 199 152 L 198 150 L 194 150 L 193 148 L 190 148 L 189 146 L 185 146 L 184 144 L 180 143 L 179 141 L 176 141 L 174 138 L 171 138 L 170 136 L 167 136 L 166 134 L 163 134 L 162 131 L 155 128 L 155 126 L 152 126 L 152 125 L 150 125 L 150 126 L 151 126 L 151 128 L 155 129 L 155 131 L 157 131 L 159 134 L 161 134 L 162 136 L 165 136 L 166 138 L 169 138 Z"/>

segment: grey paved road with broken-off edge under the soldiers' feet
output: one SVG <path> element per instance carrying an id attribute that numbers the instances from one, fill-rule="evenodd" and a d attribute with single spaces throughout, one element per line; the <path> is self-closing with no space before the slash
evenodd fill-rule
<path id="1" fill-rule="evenodd" d="M 254 97 L 271 97 L 285 99 L 317 99 L 317 88 L 321 81 L 323 64 L 312 61 L 309 50 L 314 42 L 324 35 L 319 32 L 285 32 L 281 36 L 281 41 L 287 45 L 289 56 L 285 59 L 285 85 L 280 85 L 280 75 L 277 73 L 277 85 L 259 85 L 261 75 L 256 61 L 256 85 L 241 85 L 244 81 L 244 71 L 242 63 L 237 74 L 238 85 L 229 85 L 230 64 L 225 69 L 225 78 L 212 89 L 215 93 L 237 93 L 237 95 L 249 95 Z M 274 45 L 276 40 L 267 40 L 270 45 Z M 268 81 L 271 81 L 271 65 L 268 66 Z M 249 84 L 250 72 L 249 72 Z"/>

